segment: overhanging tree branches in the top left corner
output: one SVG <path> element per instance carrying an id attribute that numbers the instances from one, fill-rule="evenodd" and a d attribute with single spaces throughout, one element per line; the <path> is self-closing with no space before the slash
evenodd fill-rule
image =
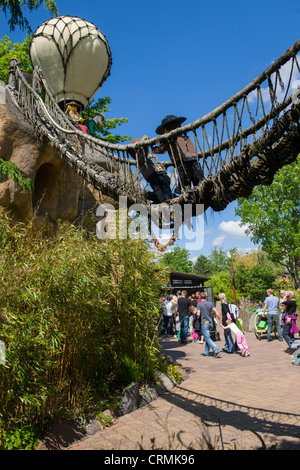
<path id="1" fill-rule="evenodd" d="M 8 20 L 10 31 L 14 31 L 18 26 L 30 32 L 29 22 L 23 11 L 26 9 L 29 11 L 37 10 L 42 4 L 51 15 L 58 15 L 54 0 L 0 0 L 0 11 L 2 10 L 6 17 L 10 15 Z"/>

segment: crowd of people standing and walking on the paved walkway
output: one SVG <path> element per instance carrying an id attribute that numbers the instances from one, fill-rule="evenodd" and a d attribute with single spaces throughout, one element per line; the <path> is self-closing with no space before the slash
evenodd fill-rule
<path id="1" fill-rule="evenodd" d="M 221 311 L 207 299 L 206 292 L 196 292 L 188 296 L 187 291 L 177 291 L 162 300 L 161 330 L 162 336 L 175 336 L 181 344 L 192 342 L 205 343 L 203 356 L 221 357 L 221 351 L 214 341 L 216 326 L 224 331 L 224 347 L 227 354 L 239 353 L 243 357 L 250 355 L 249 346 L 243 330 L 241 318 L 234 315 L 232 306 L 224 293 L 218 296 Z M 238 309 L 237 309 L 238 310 Z M 292 343 L 299 333 L 297 327 L 297 303 L 292 291 L 280 291 L 280 299 L 272 289 L 267 290 L 264 303 L 259 304 L 261 317 L 267 324 L 267 340 L 272 341 L 271 332 L 275 325 L 279 341 L 287 343 L 287 352 L 292 352 Z M 233 337 L 234 335 L 234 337 Z"/>

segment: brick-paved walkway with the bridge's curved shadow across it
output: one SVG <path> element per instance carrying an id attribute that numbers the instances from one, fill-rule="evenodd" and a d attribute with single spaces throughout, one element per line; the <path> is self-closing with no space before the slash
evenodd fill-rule
<path id="1" fill-rule="evenodd" d="M 204 357 L 204 345 L 162 340 L 165 355 L 190 375 L 150 405 L 119 418 L 109 429 L 70 450 L 300 450 L 300 367 L 286 344 L 248 333 L 251 356 Z M 221 341 L 217 343 L 222 348 Z M 257 434 L 255 434 L 257 433 Z"/>

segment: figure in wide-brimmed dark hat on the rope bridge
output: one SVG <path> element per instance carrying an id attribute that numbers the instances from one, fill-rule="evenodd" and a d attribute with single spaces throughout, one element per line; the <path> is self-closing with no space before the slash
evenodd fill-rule
<path id="1" fill-rule="evenodd" d="M 184 121 L 186 121 L 185 117 L 168 115 L 162 120 L 156 129 L 156 133 L 162 135 L 171 132 L 181 127 Z M 182 189 L 190 187 L 191 183 L 193 183 L 194 187 L 197 186 L 204 179 L 202 168 L 198 162 L 197 152 L 190 137 L 187 135 L 178 136 L 171 142 L 163 142 L 159 146 L 153 147 L 152 150 L 155 154 L 168 152 L 179 177 L 178 186 L 174 190 L 176 194 L 181 194 Z"/>

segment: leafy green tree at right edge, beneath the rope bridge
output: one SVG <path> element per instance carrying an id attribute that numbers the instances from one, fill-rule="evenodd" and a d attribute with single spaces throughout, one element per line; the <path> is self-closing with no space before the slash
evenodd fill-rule
<path id="1" fill-rule="evenodd" d="M 247 235 L 288 271 L 294 289 L 300 287 L 299 161 L 300 156 L 282 168 L 270 186 L 258 186 L 250 197 L 239 199 L 236 209 Z"/>

